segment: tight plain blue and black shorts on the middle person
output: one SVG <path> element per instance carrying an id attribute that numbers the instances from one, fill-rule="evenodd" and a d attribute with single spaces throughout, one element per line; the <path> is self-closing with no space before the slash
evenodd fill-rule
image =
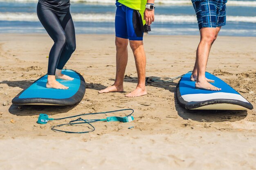
<path id="1" fill-rule="evenodd" d="M 142 41 L 145 30 L 139 11 L 126 7 L 119 2 L 117 2 L 116 5 L 116 37 Z"/>

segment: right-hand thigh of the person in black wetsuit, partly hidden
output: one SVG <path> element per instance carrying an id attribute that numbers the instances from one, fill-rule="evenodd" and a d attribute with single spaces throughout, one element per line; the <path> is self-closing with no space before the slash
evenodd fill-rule
<path id="1" fill-rule="evenodd" d="M 65 32 L 67 44 L 70 48 L 75 49 L 76 47 L 76 33 L 74 28 L 74 22 L 70 11 L 60 16 L 61 26 Z"/>

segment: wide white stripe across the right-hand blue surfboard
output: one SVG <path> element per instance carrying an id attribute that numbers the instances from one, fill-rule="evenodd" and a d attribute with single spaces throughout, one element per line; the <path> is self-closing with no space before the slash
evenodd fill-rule
<path id="1" fill-rule="evenodd" d="M 186 102 L 202 102 L 212 99 L 234 99 L 249 103 L 243 96 L 234 93 L 189 94 L 181 96 Z"/>

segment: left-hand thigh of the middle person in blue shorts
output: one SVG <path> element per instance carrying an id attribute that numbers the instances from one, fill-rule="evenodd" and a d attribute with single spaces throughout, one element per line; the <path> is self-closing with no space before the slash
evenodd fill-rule
<path id="1" fill-rule="evenodd" d="M 115 32 L 116 37 L 128 39 L 125 9 L 126 7 L 124 5 L 117 5 L 115 16 Z"/>

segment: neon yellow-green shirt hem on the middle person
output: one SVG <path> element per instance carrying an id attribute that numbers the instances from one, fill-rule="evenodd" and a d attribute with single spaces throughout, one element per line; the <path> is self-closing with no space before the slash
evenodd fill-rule
<path id="1" fill-rule="evenodd" d="M 121 4 L 124 4 L 126 7 L 131 9 L 145 11 L 147 0 L 118 0 Z"/>

